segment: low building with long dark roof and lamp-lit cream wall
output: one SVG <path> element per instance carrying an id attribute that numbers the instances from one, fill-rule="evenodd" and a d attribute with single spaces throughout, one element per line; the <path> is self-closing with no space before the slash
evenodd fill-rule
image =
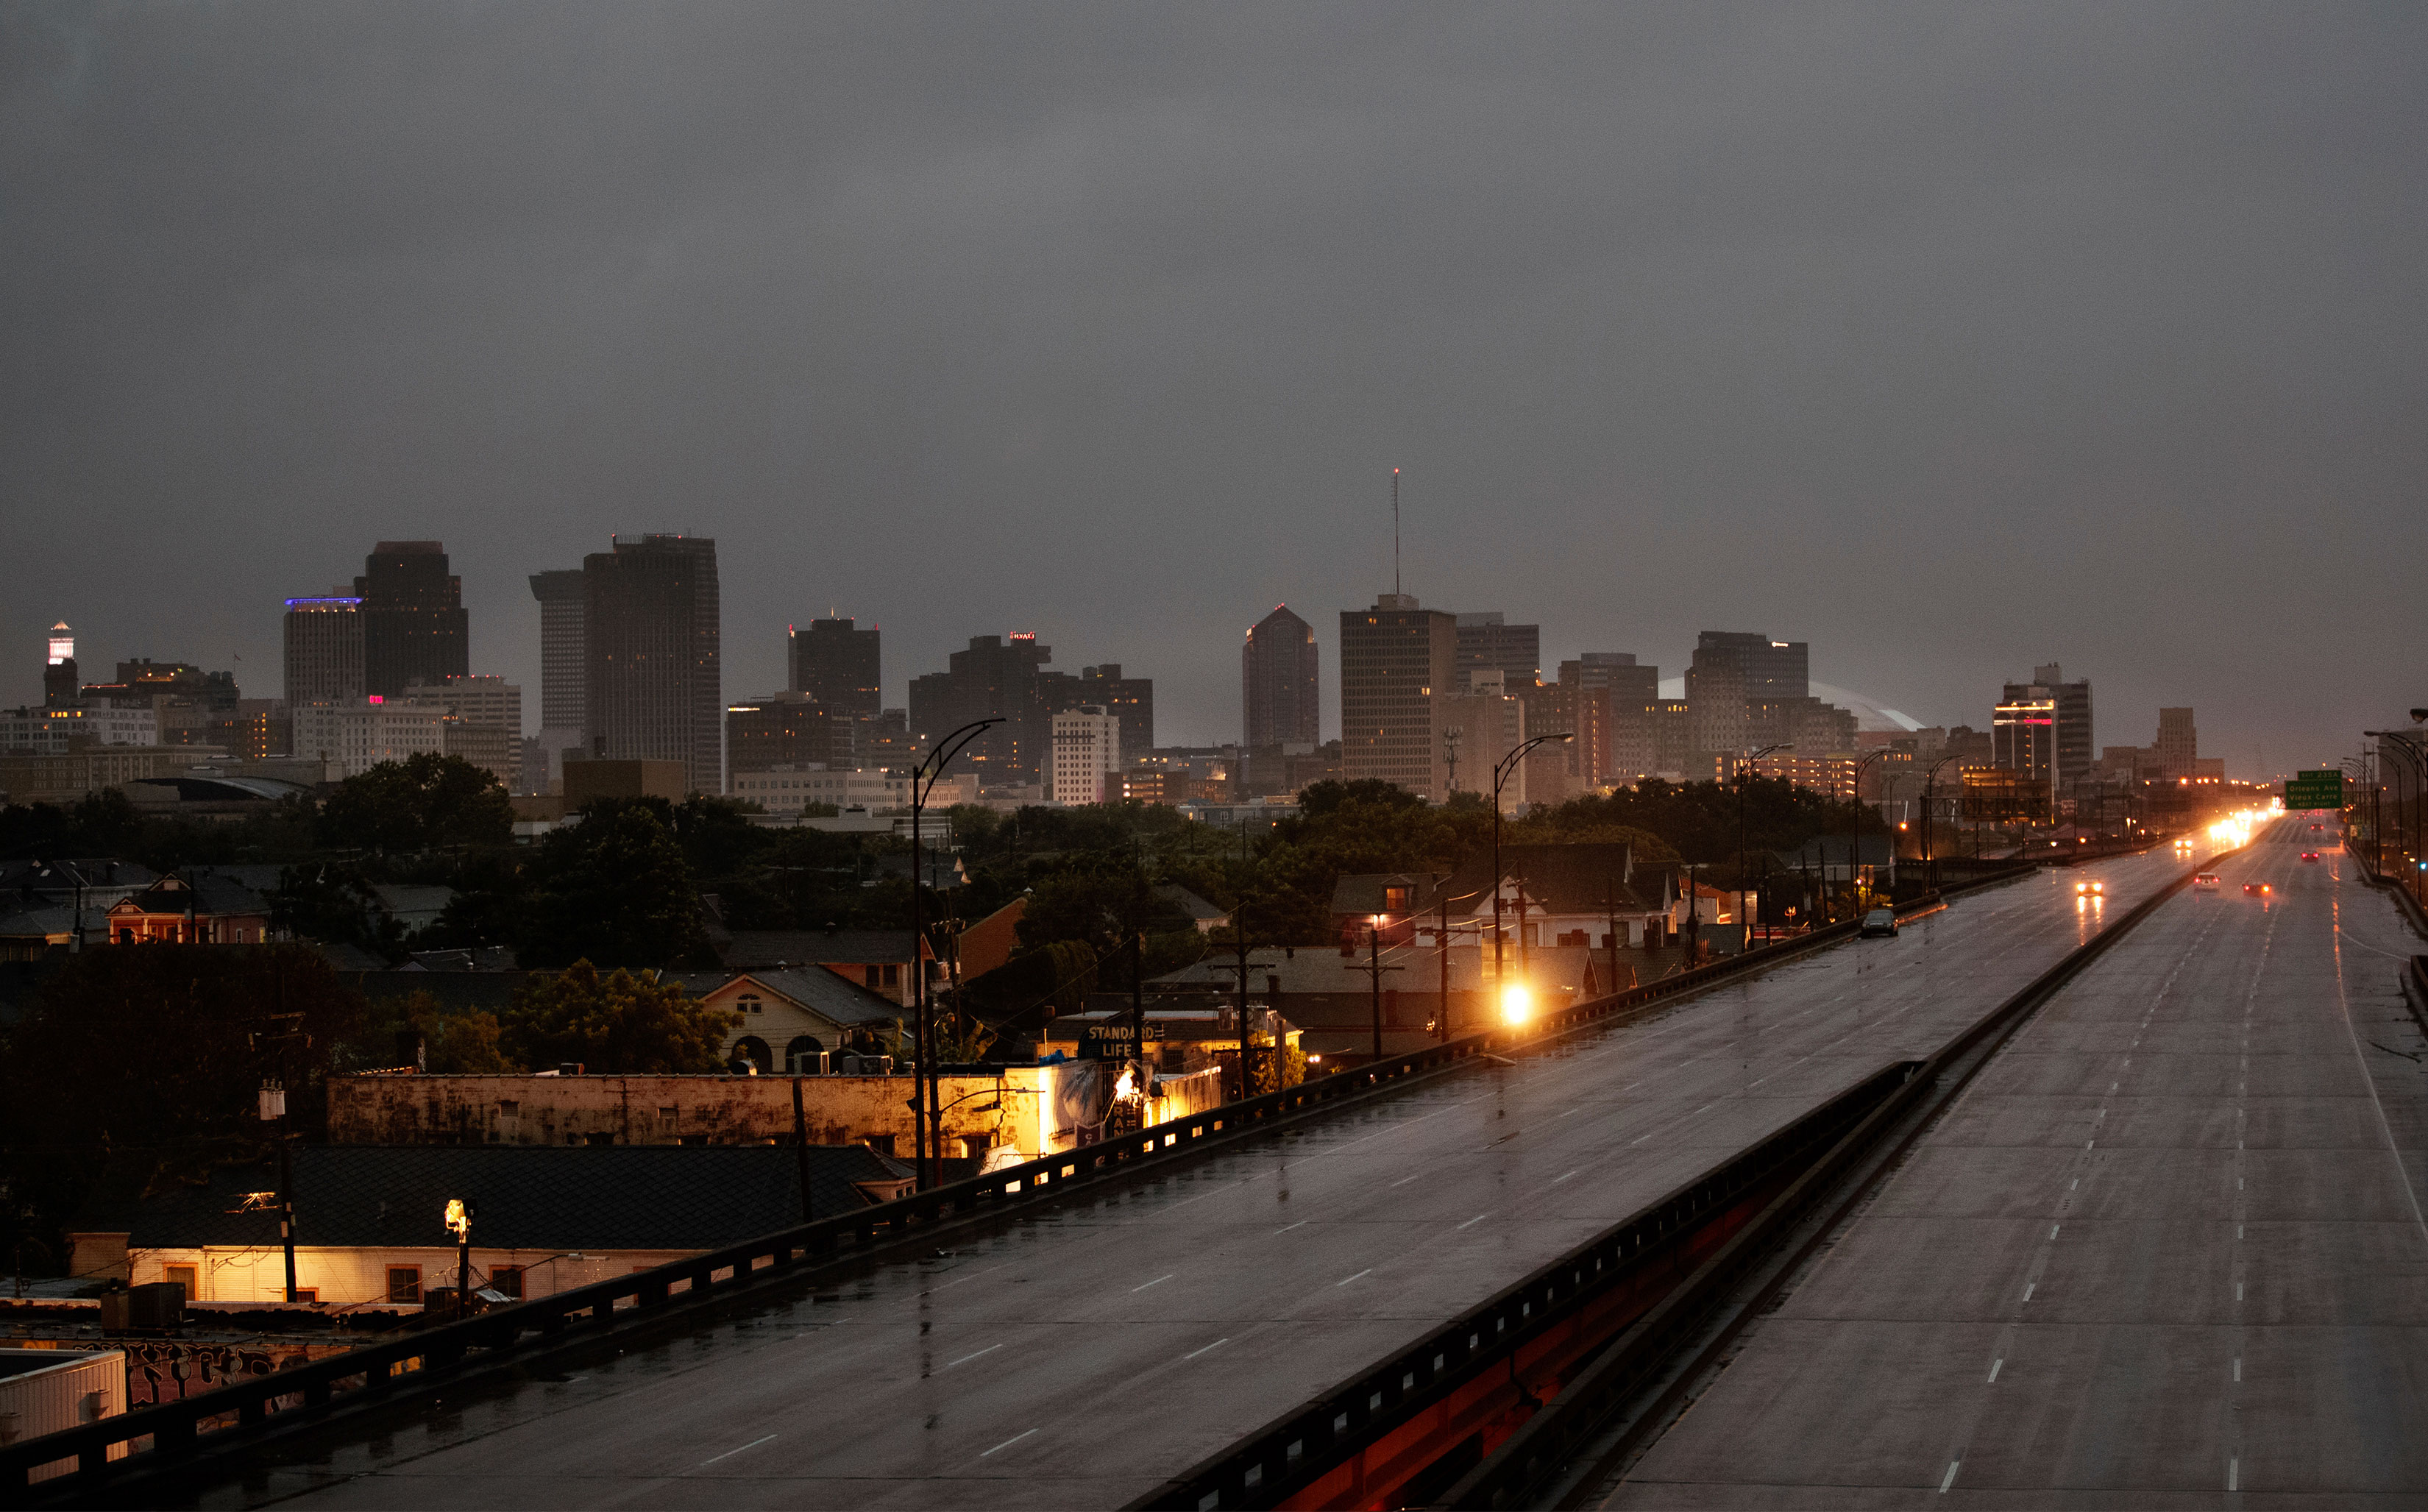
<path id="1" fill-rule="evenodd" d="M 296 1146 L 296 1286 L 325 1308 L 422 1306 L 456 1284 L 444 1213 L 461 1199 L 471 1284 L 549 1296 L 801 1223 L 799 1158 L 772 1146 Z M 175 1281 L 202 1303 L 284 1301 L 277 1160 L 221 1165 L 204 1182 L 148 1175 L 114 1167 L 73 1218 L 75 1274 Z M 894 1196 L 906 1175 L 867 1146 L 811 1146 L 806 1216 Z"/>

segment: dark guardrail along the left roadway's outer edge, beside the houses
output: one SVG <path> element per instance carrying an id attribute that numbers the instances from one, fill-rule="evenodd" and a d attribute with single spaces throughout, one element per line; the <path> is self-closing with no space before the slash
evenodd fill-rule
<path id="1" fill-rule="evenodd" d="M 1940 898 L 2013 881 L 2030 874 L 2018 864 L 2010 874 L 1984 876 L 1938 898 L 1904 905 L 1904 917 L 1930 913 Z M 29 1493 L 46 1502 L 78 1500 L 109 1483 L 168 1468 L 199 1449 L 233 1446 L 267 1429 L 294 1427 L 337 1405 L 403 1400 L 469 1374 L 529 1362 L 534 1354 L 617 1328 L 658 1325 L 668 1313 L 775 1279 L 792 1279 L 813 1264 L 850 1260 L 891 1247 L 913 1230 L 1008 1213 L 1029 1201 L 1051 1201 L 1076 1187 L 1131 1175 L 1148 1165 L 1202 1155 L 1236 1138 L 1270 1133 L 1301 1119 L 1396 1092 L 1440 1073 L 1471 1065 L 1484 1056 L 1556 1039 L 1590 1027 L 1624 1022 L 1670 997 L 1700 993 L 1721 980 L 1765 971 L 1823 944 L 1853 939 L 1855 920 L 1828 925 L 1738 956 L 1697 966 L 1678 976 L 1629 988 L 1610 997 L 1578 1002 L 1539 1014 L 1522 1029 L 1486 1029 L 1403 1056 L 1338 1070 L 1333 1075 L 1265 1092 L 1246 1102 L 1156 1124 L 1139 1133 L 1046 1155 L 998 1172 L 935 1187 L 886 1204 L 818 1218 L 741 1245 L 675 1260 L 648 1272 L 592 1281 L 556 1291 L 493 1313 L 439 1323 L 401 1340 L 357 1345 L 345 1354 L 313 1359 L 272 1376 L 248 1376 L 175 1403 L 138 1408 L 80 1427 L 44 1434 L 0 1449 L 0 1505 L 22 1505 Z M 119 1451 L 112 1459 L 112 1451 Z M 34 1471 L 73 1461 L 73 1468 L 46 1480 Z"/>

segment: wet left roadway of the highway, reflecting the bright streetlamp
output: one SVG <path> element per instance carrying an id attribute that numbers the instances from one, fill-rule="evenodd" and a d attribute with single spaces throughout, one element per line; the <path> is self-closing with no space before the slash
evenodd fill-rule
<path id="1" fill-rule="evenodd" d="M 2064 871 L 1991 888 L 952 1255 L 422 1408 L 206 1505 L 1112 1507 L 1928 1053 L 2180 869 L 2081 869 L 2105 903 Z"/>

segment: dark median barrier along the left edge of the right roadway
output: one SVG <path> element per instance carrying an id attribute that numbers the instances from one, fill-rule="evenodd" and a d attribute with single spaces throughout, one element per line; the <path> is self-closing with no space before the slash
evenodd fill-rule
<path id="1" fill-rule="evenodd" d="M 1972 1080 L 1972 1073 L 1989 1058 L 1984 1053 L 1972 1065 L 1964 1065 L 1962 1075 L 1950 1075 L 1959 1068 L 1959 1063 L 1964 1063 L 1967 1056 L 1984 1046 L 1993 1048 L 1996 1039 L 2003 1039 L 2008 1031 L 2020 1027 L 2032 1010 L 2054 997 L 2059 988 L 2074 980 L 2074 976 L 2091 966 L 2141 920 L 2156 913 L 2168 898 L 2190 886 L 2197 871 L 2214 866 L 2224 854 L 2231 852 L 2219 852 L 2219 857 L 2209 857 L 2209 862 L 2195 871 L 2185 871 L 2183 876 L 2168 881 L 2163 888 L 2129 908 L 2112 925 L 2049 966 L 2049 971 L 2032 978 L 2032 983 L 2020 993 L 1989 1010 L 1940 1046 L 1928 1061 L 1921 1063 L 1911 1080 L 1879 1102 L 1879 1107 L 1848 1131 L 1845 1138 L 1828 1150 L 1828 1155 L 1799 1175 L 1794 1184 L 1789 1184 L 1758 1218 L 1729 1238 L 1729 1243 L 1721 1245 L 1695 1277 L 1670 1291 L 1670 1296 L 1649 1311 L 1627 1335 L 1622 1335 L 1573 1381 L 1568 1381 L 1559 1396 L 1544 1405 L 1544 1410 L 1527 1417 L 1518 1432 L 1486 1454 L 1474 1471 L 1462 1476 L 1435 1502 L 1435 1507 L 1501 1510 L 1539 1505 L 1544 1483 L 1559 1476 L 1568 1461 L 1619 1415 L 1624 1403 L 1649 1393 L 1651 1386 L 1670 1371 L 1678 1352 L 1707 1330 L 1714 1308 L 1731 1291 L 1746 1284 L 1765 1262 L 1770 1262 L 1777 1245 L 1782 1245 L 1799 1223 L 1811 1218 L 1821 1206 L 1836 1204 L 1831 1221 L 1811 1235 L 1811 1243 L 1819 1245 L 1828 1228 L 1853 1209 L 1853 1204 L 1862 1196 L 1862 1184 L 1857 1182 L 1855 1189 L 1840 1189 L 1840 1182 L 1845 1182 L 1845 1177 L 1853 1175 L 1855 1167 L 1872 1153 L 1872 1146 L 1877 1146 L 1901 1119 L 1908 1119 L 1908 1114 L 1921 1109 L 1925 1102 L 1945 1107 L 1945 1102 L 1952 1099 L 1964 1082 Z M 1904 1150 L 1911 1146 L 1925 1126 L 1928 1119 L 1913 1119 L 1896 1148 Z M 1724 1347 L 1746 1320 L 1763 1311 L 1763 1301 L 1768 1301 L 1770 1291 L 1785 1284 L 1785 1277 L 1794 1269 L 1797 1260 L 1802 1260 L 1802 1252 L 1789 1257 L 1787 1267 L 1780 1267 L 1763 1298 L 1741 1308 L 1736 1320 L 1717 1337 L 1704 1340 L 1704 1359 Z"/>

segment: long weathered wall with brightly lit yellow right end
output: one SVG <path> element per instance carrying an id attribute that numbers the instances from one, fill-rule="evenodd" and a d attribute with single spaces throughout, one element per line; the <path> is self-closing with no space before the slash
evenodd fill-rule
<path id="1" fill-rule="evenodd" d="M 944 1138 L 1044 1155 L 1061 1068 L 947 1075 Z M 328 1138 L 340 1146 L 677 1146 L 789 1143 L 801 1082 L 809 1141 L 874 1143 L 910 1155 L 908 1075 L 359 1075 L 330 1080 Z M 947 1153 L 961 1153 L 947 1143 Z"/>

